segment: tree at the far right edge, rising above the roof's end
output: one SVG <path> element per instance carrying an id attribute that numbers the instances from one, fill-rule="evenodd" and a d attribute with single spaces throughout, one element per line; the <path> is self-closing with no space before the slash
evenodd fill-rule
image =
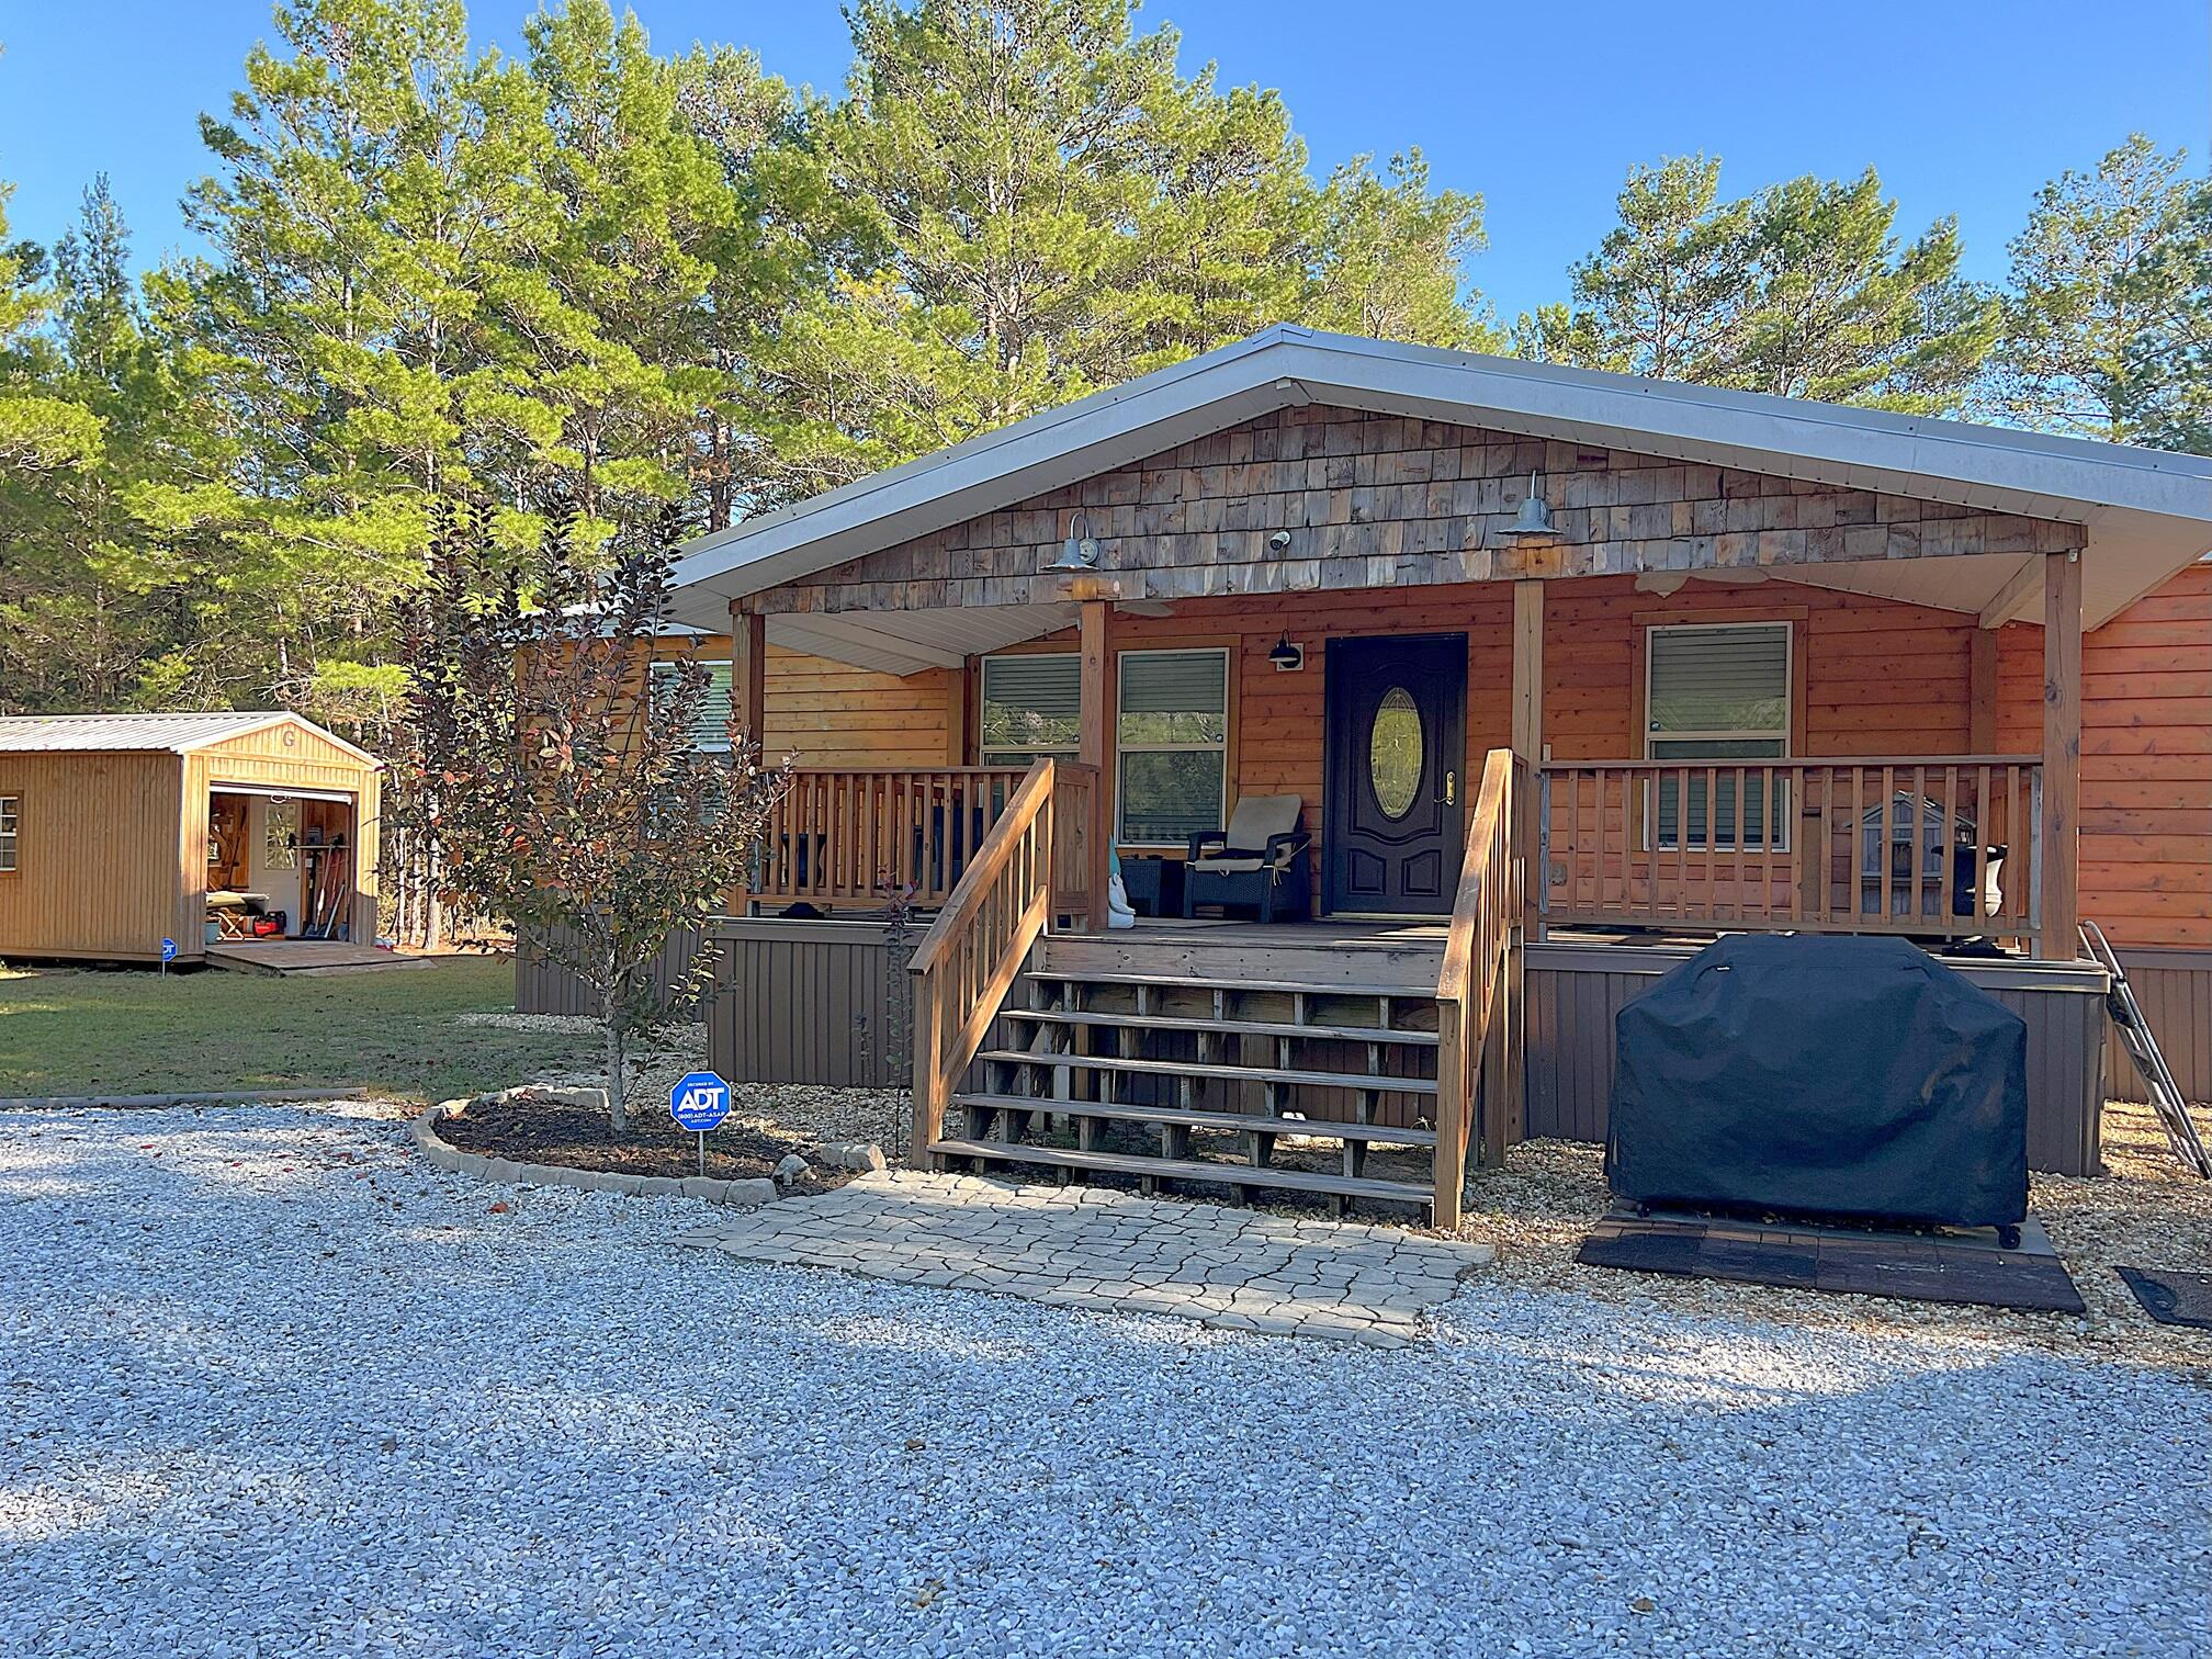
<path id="1" fill-rule="evenodd" d="M 2185 150 L 2135 133 L 2095 173 L 2062 173 L 2035 192 L 2013 239 L 2004 338 L 1984 398 L 2015 425 L 2077 438 L 2130 438 L 2128 405 L 2190 305 L 2190 206 L 2203 184 Z M 2183 327 L 2185 332 L 2185 327 Z M 2130 358 L 2137 358 L 2130 365 Z"/>

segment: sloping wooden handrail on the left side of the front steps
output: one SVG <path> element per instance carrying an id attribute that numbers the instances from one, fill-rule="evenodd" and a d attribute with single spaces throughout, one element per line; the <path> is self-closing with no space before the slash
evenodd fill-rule
<path id="1" fill-rule="evenodd" d="M 1037 761 L 975 849 L 907 964 L 914 987 L 916 1168 L 1029 947 L 1053 920 L 1053 763 Z"/>

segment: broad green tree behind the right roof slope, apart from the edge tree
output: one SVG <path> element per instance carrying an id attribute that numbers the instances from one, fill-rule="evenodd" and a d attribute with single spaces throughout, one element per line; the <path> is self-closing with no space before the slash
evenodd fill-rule
<path id="1" fill-rule="evenodd" d="M 1637 168 L 1621 223 L 1575 265 L 1575 303 L 1522 319 L 1531 356 L 1668 380 L 1958 409 L 1997 307 L 1958 274 L 1958 223 L 1900 246 L 1896 201 L 1858 179 L 1792 179 L 1723 201 L 1705 157 Z"/>

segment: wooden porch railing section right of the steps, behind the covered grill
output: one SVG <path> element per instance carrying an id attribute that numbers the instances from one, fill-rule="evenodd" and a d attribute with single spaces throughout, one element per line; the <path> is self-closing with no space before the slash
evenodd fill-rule
<path id="1" fill-rule="evenodd" d="M 1546 922 L 2035 940 L 2042 763 L 1564 761 L 1540 768 Z"/>

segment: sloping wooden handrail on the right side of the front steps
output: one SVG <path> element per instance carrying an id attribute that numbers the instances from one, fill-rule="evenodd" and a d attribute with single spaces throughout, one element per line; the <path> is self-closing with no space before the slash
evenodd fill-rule
<path id="1" fill-rule="evenodd" d="M 1520 936 L 1520 858 L 1513 847 L 1513 750 L 1482 763 L 1467 856 L 1436 975 L 1436 1186 L 1438 1228 L 1460 1223 L 1469 1135 L 1480 1121 L 1484 1161 L 1504 1157 L 1509 1099 L 1520 1082 L 1513 1022 Z"/>

